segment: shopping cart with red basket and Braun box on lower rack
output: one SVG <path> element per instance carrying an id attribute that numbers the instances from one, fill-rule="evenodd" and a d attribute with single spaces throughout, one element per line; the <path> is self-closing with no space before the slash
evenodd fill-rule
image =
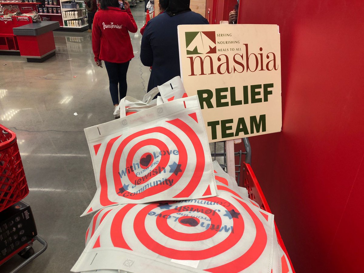
<path id="1" fill-rule="evenodd" d="M 0 124 L 0 214 L 2 215 L 0 217 L 0 222 L 2 223 L 0 227 L 0 243 L 6 246 L 0 253 L 0 265 L 15 254 L 19 254 L 20 257 L 26 259 L 11 273 L 18 272 L 47 249 L 47 242 L 37 235 L 35 224 L 31 233 L 33 236 L 22 237 L 26 238 L 26 240 L 18 240 L 18 237 L 20 239 L 23 235 L 22 233 L 15 234 L 15 225 L 19 220 L 16 219 L 15 214 L 12 215 L 12 211 L 16 211 L 16 206 L 19 206 L 20 209 L 21 205 L 17 205 L 17 202 L 27 196 L 28 193 L 29 189 L 16 142 L 16 134 Z M 27 205 L 24 202 L 21 203 Z M 13 221 L 13 218 L 16 220 Z M 17 227 L 20 227 L 19 224 Z M 24 230 L 25 228 L 21 229 L 21 232 L 26 233 Z M 43 245 L 36 253 L 32 248 L 34 241 L 39 241 Z M 15 244 L 18 242 L 21 242 L 21 244 Z"/>

